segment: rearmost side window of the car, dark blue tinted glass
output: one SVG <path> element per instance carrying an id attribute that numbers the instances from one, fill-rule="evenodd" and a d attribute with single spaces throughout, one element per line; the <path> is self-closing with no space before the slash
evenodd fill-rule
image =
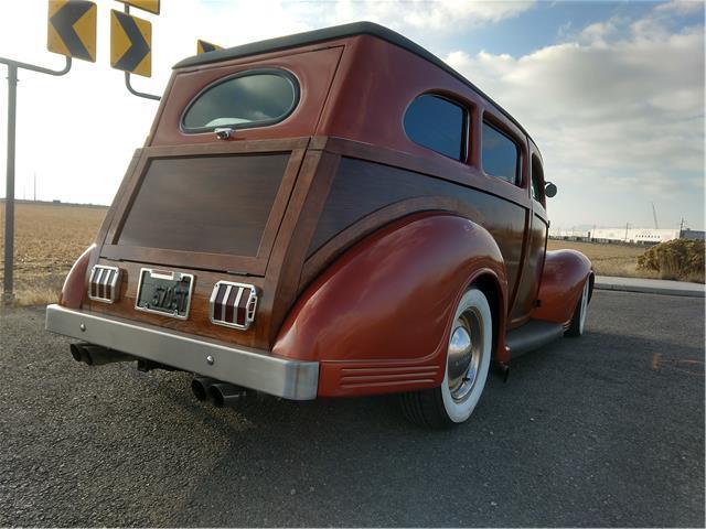
<path id="1" fill-rule="evenodd" d="M 440 96 L 420 96 L 407 108 L 404 127 L 415 143 L 466 160 L 468 112 L 460 105 Z"/>

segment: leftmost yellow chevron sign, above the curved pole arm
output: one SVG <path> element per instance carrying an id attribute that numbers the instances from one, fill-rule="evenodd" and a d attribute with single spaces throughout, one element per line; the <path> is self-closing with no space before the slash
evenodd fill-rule
<path id="1" fill-rule="evenodd" d="M 96 12 L 94 2 L 50 0 L 46 48 L 60 55 L 95 63 Z"/>

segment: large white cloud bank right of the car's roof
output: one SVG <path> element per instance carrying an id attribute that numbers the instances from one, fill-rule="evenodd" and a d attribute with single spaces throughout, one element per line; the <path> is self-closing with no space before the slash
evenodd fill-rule
<path id="1" fill-rule="evenodd" d="M 627 31 L 625 22 L 591 24 L 573 42 L 518 58 L 457 51 L 446 61 L 538 143 L 563 193 L 550 205 L 559 223 L 619 224 L 639 215 L 644 224 L 654 201 L 671 223 L 687 212 L 702 225 L 704 28 L 674 33 L 654 13 Z M 645 33 L 648 23 L 660 31 Z M 609 209 L 602 204 L 613 194 L 622 205 Z"/>

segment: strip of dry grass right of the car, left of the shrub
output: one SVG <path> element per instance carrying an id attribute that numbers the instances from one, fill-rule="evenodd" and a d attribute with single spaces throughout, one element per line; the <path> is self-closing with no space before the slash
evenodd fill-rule
<path id="1" fill-rule="evenodd" d="M 644 253 L 646 247 L 634 245 L 603 245 L 598 242 L 575 242 L 571 240 L 554 240 L 547 244 L 547 249 L 559 250 L 570 248 L 588 257 L 593 263 L 597 276 L 613 276 L 619 278 L 659 279 L 656 272 L 638 270 L 638 258 Z"/>

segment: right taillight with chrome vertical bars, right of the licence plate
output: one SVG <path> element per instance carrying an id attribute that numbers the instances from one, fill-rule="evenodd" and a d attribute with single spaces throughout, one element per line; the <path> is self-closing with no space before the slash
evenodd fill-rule
<path id="1" fill-rule="evenodd" d="M 211 323 L 247 330 L 255 321 L 257 289 L 252 284 L 218 281 L 208 303 Z"/>

